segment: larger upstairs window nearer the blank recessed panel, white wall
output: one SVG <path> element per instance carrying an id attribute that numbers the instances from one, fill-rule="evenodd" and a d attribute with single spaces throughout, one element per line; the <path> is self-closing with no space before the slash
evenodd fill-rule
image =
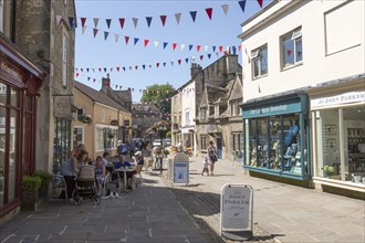
<path id="1" fill-rule="evenodd" d="M 282 46 L 283 68 L 302 62 L 302 29 L 299 28 L 282 36 Z"/>

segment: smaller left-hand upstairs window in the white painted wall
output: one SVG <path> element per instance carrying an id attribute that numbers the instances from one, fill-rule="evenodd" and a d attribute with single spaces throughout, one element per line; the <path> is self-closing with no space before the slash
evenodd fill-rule
<path id="1" fill-rule="evenodd" d="M 263 45 L 251 52 L 252 78 L 268 74 L 268 45 Z"/>

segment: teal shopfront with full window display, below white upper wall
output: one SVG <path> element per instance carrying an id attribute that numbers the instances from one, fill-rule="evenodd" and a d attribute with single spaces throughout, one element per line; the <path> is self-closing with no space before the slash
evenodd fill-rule
<path id="1" fill-rule="evenodd" d="M 241 108 L 243 167 L 250 172 L 310 179 L 307 95 L 302 92 L 254 99 Z"/>

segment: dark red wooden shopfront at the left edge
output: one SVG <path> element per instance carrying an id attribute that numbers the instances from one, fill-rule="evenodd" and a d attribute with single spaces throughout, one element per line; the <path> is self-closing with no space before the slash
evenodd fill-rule
<path id="1" fill-rule="evenodd" d="M 35 107 L 44 76 L 0 35 L 0 225 L 19 211 L 21 178 L 35 168 Z"/>

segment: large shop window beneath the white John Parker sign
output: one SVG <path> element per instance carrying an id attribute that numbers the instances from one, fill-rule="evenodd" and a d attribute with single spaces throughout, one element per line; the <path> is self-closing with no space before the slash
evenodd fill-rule
<path id="1" fill-rule="evenodd" d="M 340 127 L 340 115 L 343 127 Z M 315 112 L 317 177 L 361 183 L 365 175 L 365 106 Z M 343 133 L 344 148 L 340 145 Z M 344 152 L 345 160 L 341 160 Z M 344 171 L 341 168 L 345 168 Z"/>

